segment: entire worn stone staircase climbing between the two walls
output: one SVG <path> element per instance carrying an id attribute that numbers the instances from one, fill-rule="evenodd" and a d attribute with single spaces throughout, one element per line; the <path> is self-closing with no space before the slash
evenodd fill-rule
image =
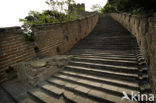
<path id="1" fill-rule="evenodd" d="M 73 55 L 68 65 L 26 90 L 27 98 L 12 98 L 21 103 L 138 103 L 121 101 L 123 91 L 129 97 L 132 91 L 151 93 L 135 37 L 110 17 L 100 18 L 94 31 L 65 55 Z"/>

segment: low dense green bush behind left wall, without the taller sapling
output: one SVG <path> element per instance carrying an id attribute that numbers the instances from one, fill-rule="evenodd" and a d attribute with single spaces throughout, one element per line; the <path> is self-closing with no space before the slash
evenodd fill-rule
<path id="1" fill-rule="evenodd" d="M 30 11 L 28 16 L 24 19 L 20 19 L 26 25 L 32 26 L 33 24 L 45 24 L 45 23 L 55 23 L 67 20 L 67 15 L 62 12 L 45 10 L 43 12 Z"/>

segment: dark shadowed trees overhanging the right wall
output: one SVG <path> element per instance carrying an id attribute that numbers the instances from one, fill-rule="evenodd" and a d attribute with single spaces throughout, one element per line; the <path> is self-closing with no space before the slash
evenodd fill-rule
<path id="1" fill-rule="evenodd" d="M 102 9 L 103 13 L 128 12 L 151 16 L 156 12 L 156 0 L 115 0 L 107 3 Z"/>

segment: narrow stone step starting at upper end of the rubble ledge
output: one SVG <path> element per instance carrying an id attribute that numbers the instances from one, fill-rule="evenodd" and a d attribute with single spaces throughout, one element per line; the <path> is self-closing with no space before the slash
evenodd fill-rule
<path id="1" fill-rule="evenodd" d="M 85 58 L 85 57 L 74 57 L 73 61 L 86 61 L 100 64 L 114 64 L 114 65 L 122 65 L 122 66 L 133 66 L 137 67 L 137 61 L 125 61 L 125 60 L 113 60 L 113 59 L 100 59 L 100 58 Z"/>

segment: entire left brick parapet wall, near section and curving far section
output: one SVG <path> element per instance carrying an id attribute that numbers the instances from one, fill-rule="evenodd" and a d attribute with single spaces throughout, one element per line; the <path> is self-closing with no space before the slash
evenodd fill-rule
<path id="1" fill-rule="evenodd" d="M 98 14 L 63 24 L 34 25 L 35 41 L 27 43 L 20 27 L 0 29 L 0 81 L 16 74 L 14 65 L 36 57 L 53 56 L 71 49 L 95 27 Z"/>

